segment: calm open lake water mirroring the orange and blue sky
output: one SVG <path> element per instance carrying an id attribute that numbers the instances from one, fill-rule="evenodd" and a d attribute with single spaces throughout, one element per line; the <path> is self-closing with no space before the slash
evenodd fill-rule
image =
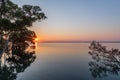
<path id="1" fill-rule="evenodd" d="M 108 49 L 120 49 L 120 43 L 102 43 Z M 120 75 L 107 73 L 106 77 L 93 77 L 88 54 L 89 43 L 39 43 L 36 60 L 17 80 L 120 80 Z M 119 72 L 118 72 L 119 73 Z"/>

